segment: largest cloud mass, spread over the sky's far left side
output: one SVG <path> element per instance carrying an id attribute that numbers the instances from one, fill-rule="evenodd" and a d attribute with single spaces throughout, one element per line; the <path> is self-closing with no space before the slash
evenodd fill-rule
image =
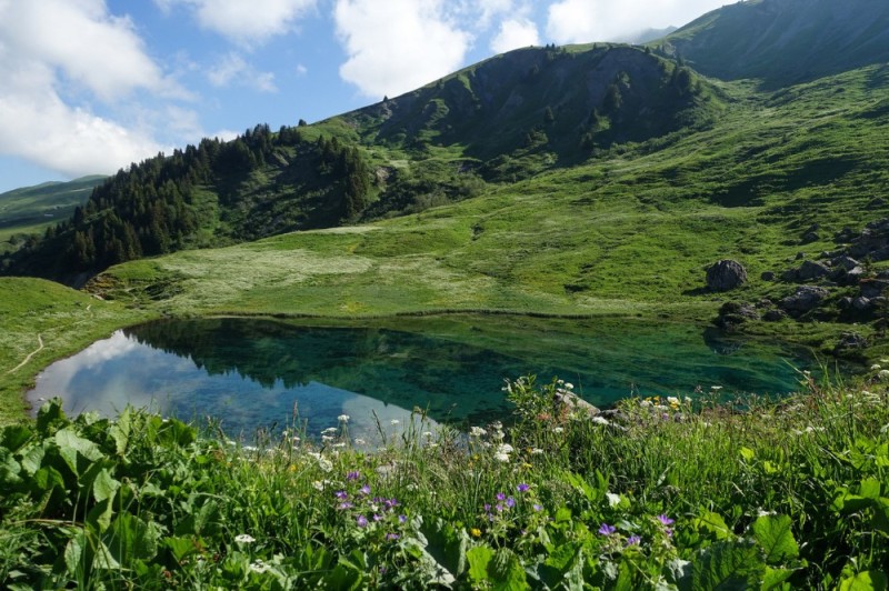
<path id="1" fill-rule="evenodd" d="M 0 153 L 72 176 L 113 172 L 160 149 L 92 101 L 184 97 L 104 0 L 0 0 Z"/>

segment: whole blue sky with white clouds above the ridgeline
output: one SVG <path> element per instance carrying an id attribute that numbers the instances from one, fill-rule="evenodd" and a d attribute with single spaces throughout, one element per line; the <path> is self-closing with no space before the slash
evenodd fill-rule
<path id="1" fill-rule="evenodd" d="M 723 0 L 0 0 L 0 192 L 318 121 L 490 56 Z"/>

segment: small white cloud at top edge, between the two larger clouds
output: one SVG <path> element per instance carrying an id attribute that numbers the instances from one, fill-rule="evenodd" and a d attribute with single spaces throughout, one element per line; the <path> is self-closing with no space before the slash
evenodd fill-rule
<path id="1" fill-rule="evenodd" d="M 249 46 L 289 32 L 300 17 L 314 9 L 317 0 L 154 0 L 169 13 L 173 4 L 196 12 L 204 29 Z"/>

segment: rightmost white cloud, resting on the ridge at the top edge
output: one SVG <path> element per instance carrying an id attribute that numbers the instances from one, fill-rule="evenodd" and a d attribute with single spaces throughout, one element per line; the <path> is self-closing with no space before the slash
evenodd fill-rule
<path id="1" fill-rule="evenodd" d="M 547 34 L 557 43 L 590 43 L 649 28 L 681 27 L 726 0 L 560 0 L 549 7 Z"/>

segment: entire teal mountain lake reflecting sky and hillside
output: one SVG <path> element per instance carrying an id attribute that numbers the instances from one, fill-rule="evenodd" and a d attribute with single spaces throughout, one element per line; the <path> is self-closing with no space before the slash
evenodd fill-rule
<path id="1" fill-rule="evenodd" d="M 394 329 L 393 327 L 398 327 Z M 414 407 L 434 421 L 482 424 L 509 412 L 503 379 L 571 381 L 607 405 L 632 394 L 709 390 L 783 394 L 811 361 L 778 344 L 712 329 L 632 320 L 430 317 L 363 325 L 257 319 L 162 321 L 116 332 L 37 379 L 28 398 L 61 397 L 70 413 L 127 404 L 182 419 L 212 417 L 230 435 L 290 424 L 308 431 L 349 414 L 350 434 L 389 428 Z"/>

